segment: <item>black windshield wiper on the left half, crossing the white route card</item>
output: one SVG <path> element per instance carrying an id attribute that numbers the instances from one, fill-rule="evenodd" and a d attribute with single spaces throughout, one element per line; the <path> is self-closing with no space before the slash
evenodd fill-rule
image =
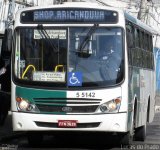
<path id="1" fill-rule="evenodd" d="M 41 37 L 43 39 L 45 39 L 53 48 L 54 52 L 58 52 L 58 48 L 55 46 L 55 44 L 52 42 L 50 36 L 48 35 L 47 31 L 44 29 L 42 24 L 38 24 L 37 25 L 37 30 L 39 32 L 39 34 L 41 35 Z"/>

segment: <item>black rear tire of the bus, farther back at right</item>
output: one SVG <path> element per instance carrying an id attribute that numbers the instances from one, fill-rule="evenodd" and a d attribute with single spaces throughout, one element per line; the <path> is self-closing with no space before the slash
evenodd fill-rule
<path id="1" fill-rule="evenodd" d="M 144 141 L 146 138 L 146 124 L 135 130 L 135 140 Z"/>

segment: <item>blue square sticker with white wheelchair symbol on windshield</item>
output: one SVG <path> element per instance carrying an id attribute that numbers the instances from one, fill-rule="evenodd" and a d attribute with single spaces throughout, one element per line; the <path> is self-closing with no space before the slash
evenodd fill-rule
<path id="1" fill-rule="evenodd" d="M 68 86 L 82 86 L 82 73 L 69 72 L 68 73 Z"/>

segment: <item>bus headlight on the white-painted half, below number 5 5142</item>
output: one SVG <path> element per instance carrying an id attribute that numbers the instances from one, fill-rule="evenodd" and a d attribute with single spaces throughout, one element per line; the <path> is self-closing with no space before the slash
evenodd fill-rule
<path id="1" fill-rule="evenodd" d="M 103 113 L 118 112 L 121 105 L 121 98 L 118 97 L 99 106 L 99 110 Z"/>

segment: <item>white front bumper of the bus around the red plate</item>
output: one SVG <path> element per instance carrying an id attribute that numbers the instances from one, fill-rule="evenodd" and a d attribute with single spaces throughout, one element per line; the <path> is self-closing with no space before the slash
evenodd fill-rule
<path id="1" fill-rule="evenodd" d="M 14 131 L 102 131 L 126 132 L 127 113 L 55 115 L 12 112 Z M 76 127 L 58 127 L 59 121 L 76 121 Z"/>

